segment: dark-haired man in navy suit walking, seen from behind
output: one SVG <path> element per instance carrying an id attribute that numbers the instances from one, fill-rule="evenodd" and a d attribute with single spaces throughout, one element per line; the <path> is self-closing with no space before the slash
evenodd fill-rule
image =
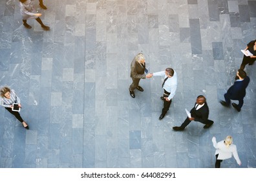
<path id="1" fill-rule="evenodd" d="M 237 77 L 234 85 L 229 87 L 228 92 L 224 94 L 225 101 L 220 100 L 220 103 L 225 107 L 229 107 L 230 100 L 238 100 L 239 104 L 232 103 L 232 106 L 237 109 L 238 112 L 241 111 L 242 105 L 244 104 L 244 97 L 246 96 L 246 87 L 250 82 L 250 78 L 246 75 L 244 70 L 239 69 L 237 71 Z"/>

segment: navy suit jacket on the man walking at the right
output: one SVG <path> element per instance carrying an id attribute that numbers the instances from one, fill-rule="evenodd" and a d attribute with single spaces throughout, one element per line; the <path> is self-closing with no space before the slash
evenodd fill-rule
<path id="1" fill-rule="evenodd" d="M 229 94 L 231 100 L 239 100 L 246 96 L 246 87 L 250 82 L 250 78 L 246 76 L 242 81 L 235 81 L 234 85 L 229 87 L 227 94 Z"/>

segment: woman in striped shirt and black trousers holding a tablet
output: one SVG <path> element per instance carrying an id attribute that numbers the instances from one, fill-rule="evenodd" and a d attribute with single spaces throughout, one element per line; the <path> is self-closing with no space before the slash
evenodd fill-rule
<path id="1" fill-rule="evenodd" d="M 16 92 L 9 87 L 3 87 L 1 90 L 1 105 L 7 109 L 11 114 L 13 114 L 19 122 L 23 124 L 23 127 L 28 129 L 28 124 L 21 118 L 19 110 L 21 108 L 21 100 L 17 96 Z M 14 105 L 17 105 L 15 109 Z"/>

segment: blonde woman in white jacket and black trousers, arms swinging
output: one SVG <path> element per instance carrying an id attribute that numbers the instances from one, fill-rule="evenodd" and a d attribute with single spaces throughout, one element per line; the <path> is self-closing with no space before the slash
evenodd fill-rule
<path id="1" fill-rule="evenodd" d="M 222 140 L 218 143 L 216 142 L 215 136 L 213 136 L 212 142 L 213 142 L 213 146 L 216 148 L 215 168 L 220 168 L 220 162 L 222 162 L 222 160 L 231 158 L 232 154 L 235 160 L 237 160 L 237 164 L 239 165 L 242 164 L 237 154 L 237 146 L 232 144 L 233 138 L 231 136 L 227 136 L 225 140 Z"/>

